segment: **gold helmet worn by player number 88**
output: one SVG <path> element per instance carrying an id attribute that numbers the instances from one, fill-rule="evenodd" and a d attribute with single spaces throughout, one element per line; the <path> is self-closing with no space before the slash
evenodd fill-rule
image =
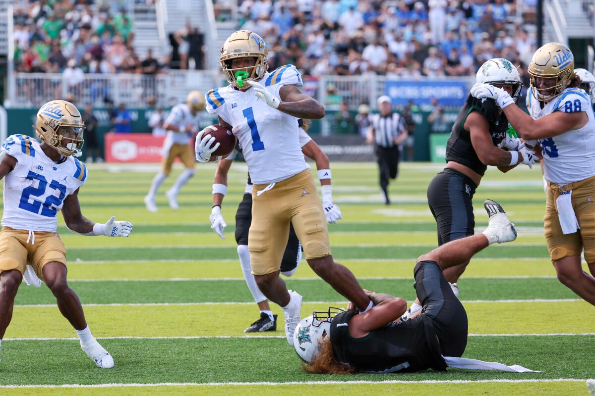
<path id="1" fill-rule="evenodd" d="M 534 54 L 528 67 L 531 75 L 531 91 L 535 99 L 547 102 L 565 90 L 574 77 L 574 56 L 567 46 L 547 43 Z M 537 78 L 552 78 L 547 87 L 539 87 Z"/>

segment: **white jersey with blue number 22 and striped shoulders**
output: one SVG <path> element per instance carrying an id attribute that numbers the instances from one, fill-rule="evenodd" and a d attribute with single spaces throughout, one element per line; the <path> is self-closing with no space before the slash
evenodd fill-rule
<path id="1" fill-rule="evenodd" d="M 55 163 L 39 142 L 26 135 L 9 136 L 2 151 L 17 159 L 17 166 L 4 178 L 2 226 L 56 232 L 56 214 L 64 199 L 84 184 L 87 167 L 74 157 Z"/>

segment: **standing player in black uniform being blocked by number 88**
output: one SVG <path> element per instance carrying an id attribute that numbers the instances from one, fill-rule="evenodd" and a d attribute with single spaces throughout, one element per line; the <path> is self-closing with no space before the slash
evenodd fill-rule
<path id="1" fill-rule="evenodd" d="M 490 59 L 477 72 L 477 82 L 502 87 L 513 97 L 521 96 L 522 81 L 511 62 Z M 471 95 L 459 111 L 446 145 L 446 167 L 428 185 L 428 205 L 438 226 L 438 245 L 473 235 L 475 217 L 471 199 L 487 166 L 508 172 L 519 163 L 533 166 L 533 151 L 518 138 L 508 137 L 508 120 L 491 100 L 481 102 Z M 506 150 L 509 151 L 506 151 Z M 461 262 L 444 272 L 454 284 L 469 262 Z M 453 285 L 455 294 L 458 287 Z M 416 300 L 406 312 L 406 319 L 421 309 Z"/>

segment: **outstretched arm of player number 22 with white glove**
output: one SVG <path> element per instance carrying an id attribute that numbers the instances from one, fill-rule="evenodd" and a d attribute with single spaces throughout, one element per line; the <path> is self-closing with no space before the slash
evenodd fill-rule
<path id="1" fill-rule="evenodd" d="M 84 217 L 80 211 L 79 189 L 64 199 L 62 216 L 68 229 L 81 235 L 127 237 L 132 232 L 132 224 L 128 221 L 115 221 L 115 216 L 112 216 L 105 224 L 93 223 Z"/>

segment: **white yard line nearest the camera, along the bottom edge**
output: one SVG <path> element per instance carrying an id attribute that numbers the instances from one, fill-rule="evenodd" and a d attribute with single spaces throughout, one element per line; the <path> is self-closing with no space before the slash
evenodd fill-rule
<path id="1" fill-rule="evenodd" d="M 491 382 L 524 383 L 524 382 L 584 382 L 587 378 L 552 378 L 552 379 L 459 379 L 438 380 L 427 379 L 423 381 L 402 381 L 391 379 L 388 381 L 292 381 L 292 382 L 161 382 L 157 384 L 65 384 L 65 385 L 4 385 L 1 388 L 145 388 L 145 387 L 221 387 L 221 386 L 254 386 L 254 385 L 337 385 L 337 384 L 487 384 Z"/>

